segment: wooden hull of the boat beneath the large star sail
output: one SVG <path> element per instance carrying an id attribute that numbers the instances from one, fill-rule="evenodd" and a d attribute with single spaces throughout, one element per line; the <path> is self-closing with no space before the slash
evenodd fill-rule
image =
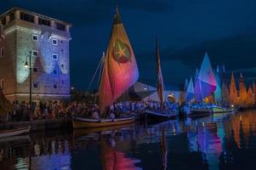
<path id="1" fill-rule="evenodd" d="M 73 117 L 74 128 L 110 127 L 134 122 L 134 116 L 116 119 L 87 119 L 79 116 Z"/>

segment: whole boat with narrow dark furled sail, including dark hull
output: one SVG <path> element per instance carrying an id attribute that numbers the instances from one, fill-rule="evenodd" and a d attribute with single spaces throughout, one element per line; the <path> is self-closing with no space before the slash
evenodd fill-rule
<path id="1" fill-rule="evenodd" d="M 177 111 L 172 111 L 170 108 L 164 106 L 164 94 L 163 94 L 163 79 L 162 70 L 160 64 L 160 52 L 158 42 L 156 40 L 156 88 L 157 94 L 160 99 L 160 111 L 145 110 L 145 116 L 152 119 L 169 119 L 178 116 Z"/>

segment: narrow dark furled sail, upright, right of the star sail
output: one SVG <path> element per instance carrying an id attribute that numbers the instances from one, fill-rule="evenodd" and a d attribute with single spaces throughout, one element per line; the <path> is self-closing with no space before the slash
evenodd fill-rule
<path id="1" fill-rule="evenodd" d="M 156 40 L 156 88 L 157 94 L 160 99 L 160 106 L 163 109 L 163 81 L 162 81 L 162 70 L 160 64 L 160 52 L 158 47 L 158 42 Z"/>

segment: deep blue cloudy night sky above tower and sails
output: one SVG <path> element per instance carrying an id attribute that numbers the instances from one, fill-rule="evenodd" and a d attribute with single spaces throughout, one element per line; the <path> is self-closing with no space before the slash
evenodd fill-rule
<path id="1" fill-rule="evenodd" d="M 3 3 L 4 2 L 4 3 Z M 4 0 L 72 24 L 71 86 L 86 90 L 107 48 L 116 5 L 134 48 L 139 81 L 156 85 L 155 38 L 160 42 L 165 86 L 177 88 L 194 75 L 207 51 L 213 67 L 256 76 L 254 0 Z M 35 3 L 37 2 L 37 3 Z M 96 88 L 96 81 L 94 83 Z"/>

